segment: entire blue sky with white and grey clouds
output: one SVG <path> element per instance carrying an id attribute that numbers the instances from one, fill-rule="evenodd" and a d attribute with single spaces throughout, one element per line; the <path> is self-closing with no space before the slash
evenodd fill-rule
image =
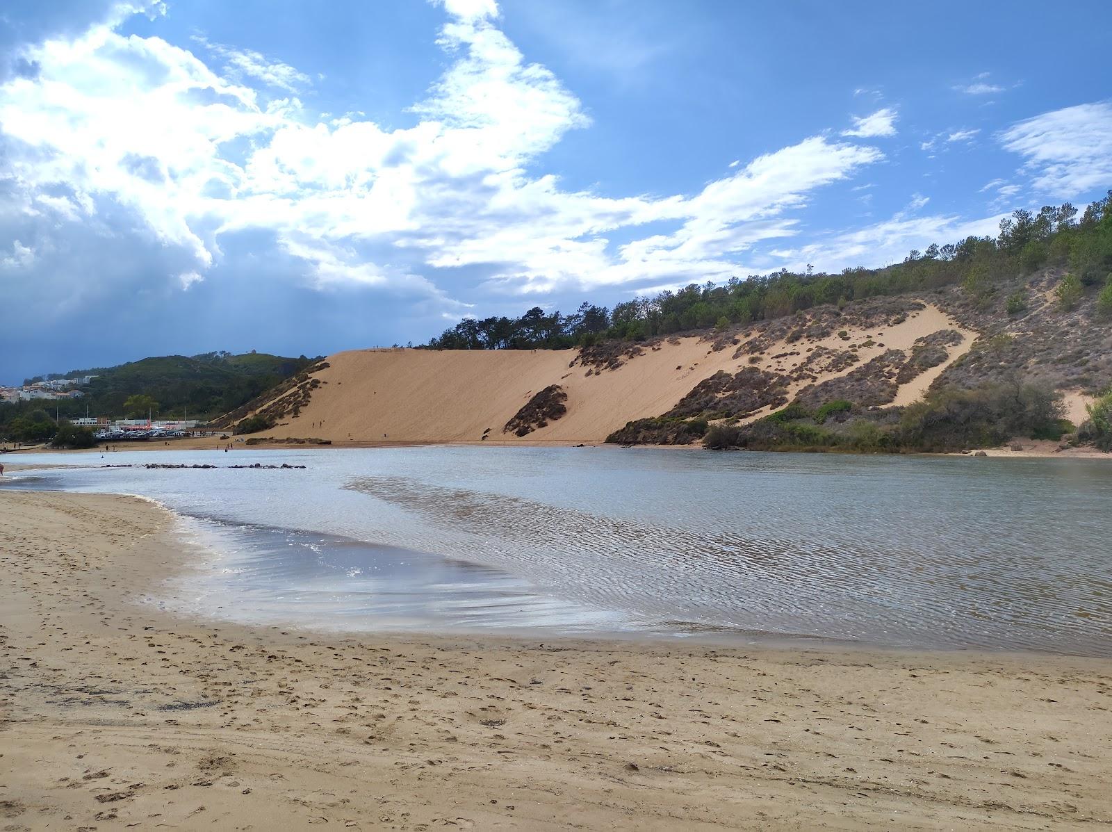
<path id="1" fill-rule="evenodd" d="M 6 0 L 0 383 L 327 355 L 1112 188 L 1112 11 Z"/>

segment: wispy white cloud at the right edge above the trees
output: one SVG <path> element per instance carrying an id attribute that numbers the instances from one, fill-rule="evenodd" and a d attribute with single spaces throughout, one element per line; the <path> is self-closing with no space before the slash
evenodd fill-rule
<path id="1" fill-rule="evenodd" d="M 1025 157 L 1039 194 L 1074 197 L 1112 182 L 1112 102 L 1065 107 L 1019 121 L 1000 135 Z"/>

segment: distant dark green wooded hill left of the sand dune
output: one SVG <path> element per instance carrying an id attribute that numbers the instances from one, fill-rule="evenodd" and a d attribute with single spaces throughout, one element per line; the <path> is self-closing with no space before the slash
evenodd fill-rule
<path id="1" fill-rule="evenodd" d="M 314 359 L 287 358 L 266 353 L 205 353 L 195 356 L 170 355 L 142 358 L 118 367 L 71 370 L 56 377 L 96 375 L 82 388 L 86 396 L 75 402 L 29 402 L 8 405 L 7 409 L 42 408 L 62 416 L 121 416 L 123 403 L 132 395 L 151 396 L 159 403 L 158 416 L 207 419 L 232 410 L 264 390 L 299 373 Z M 10 415 L 10 414 L 9 414 Z M 0 415 L 0 423 L 4 422 Z"/>

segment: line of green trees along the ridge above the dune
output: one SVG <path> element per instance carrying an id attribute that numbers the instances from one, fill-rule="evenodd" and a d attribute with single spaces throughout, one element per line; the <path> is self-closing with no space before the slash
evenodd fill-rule
<path id="1" fill-rule="evenodd" d="M 533 307 L 518 318 L 465 318 L 423 345 L 429 349 L 562 349 L 604 339 L 642 340 L 688 330 L 725 329 L 793 315 L 824 304 L 964 285 L 984 296 L 995 284 L 1048 266 L 1070 269 L 1069 285 L 1112 286 L 1112 190 L 1079 217 L 1070 202 L 1040 211 L 1019 209 L 1000 224 L 996 237 L 966 237 L 912 250 L 884 268 L 847 268 L 841 274 L 786 269 L 731 278 L 725 285 L 691 284 L 616 304 L 584 303 L 570 314 Z M 1103 296 L 1102 296 L 1103 297 Z M 1112 289 L 1105 304 L 1112 314 Z"/>

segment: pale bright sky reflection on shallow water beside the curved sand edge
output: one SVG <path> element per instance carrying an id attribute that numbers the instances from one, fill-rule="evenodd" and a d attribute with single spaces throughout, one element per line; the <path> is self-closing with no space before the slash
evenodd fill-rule
<path id="1" fill-rule="evenodd" d="M 538 595 L 481 564 L 330 535 L 187 522 L 210 557 L 169 583 L 169 608 L 326 630 L 555 628 L 598 632 L 616 616 Z"/>

